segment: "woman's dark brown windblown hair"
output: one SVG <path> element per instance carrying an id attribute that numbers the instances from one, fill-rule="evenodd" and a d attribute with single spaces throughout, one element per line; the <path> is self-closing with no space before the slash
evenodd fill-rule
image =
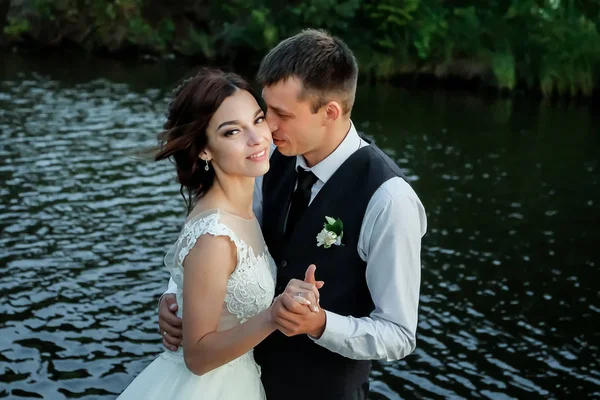
<path id="1" fill-rule="evenodd" d="M 215 179 L 214 168 L 210 166 L 206 171 L 206 161 L 198 157 L 208 144 L 208 123 L 223 101 L 238 90 L 246 90 L 256 98 L 250 85 L 239 75 L 203 68 L 197 75 L 180 82 L 173 91 L 175 98 L 169 104 L 164 131 L 158 135 L 154 159 L 168 158 L 175 164 L 188 212 Z"/>

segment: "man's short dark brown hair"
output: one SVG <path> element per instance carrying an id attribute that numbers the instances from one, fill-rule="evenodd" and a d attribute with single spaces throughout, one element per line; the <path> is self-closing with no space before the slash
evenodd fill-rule
<path id="1" fill-rule="evenodd" d="M 300 98 L 312 100 L 313 112 L 334 98 L 341 102 L 344 114 L 352 110 L 358 63 L 339 38 L 306 29 L 281 41 L 263 58 L 257 80 L 268 87 L 290 77 L 302 82 Z"/>

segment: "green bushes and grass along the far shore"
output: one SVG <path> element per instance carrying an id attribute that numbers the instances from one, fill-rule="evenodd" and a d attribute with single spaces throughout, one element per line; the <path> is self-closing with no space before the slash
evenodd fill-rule
<path id="1" fill-rule="evenodd" d="M 600 89 L 600 1 L 0 0 L 7 49 L 174 55 L 250 69 L 307 27 L 345 40 L 366 80 L 458 79 L 546 97 Z"/>

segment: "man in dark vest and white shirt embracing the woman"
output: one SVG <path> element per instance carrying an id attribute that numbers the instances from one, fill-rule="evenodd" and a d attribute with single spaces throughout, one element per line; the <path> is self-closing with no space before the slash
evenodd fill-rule
<path id="1" fill-rule="evenodd" d="M 254 351 L 270 400 L 366 399 L 370 360 L 416 345 L 425 210 L 350 120 L 357 76 L 346 44 L 316 30 L 279 43 L 258 71 L 277 150 L 256 181 L 254 212 L 284 293 L 273 307 L 279 331 Z M 323 234 L 318 243 L 326 217 L 343 223 L 341 243 L 324 245 Z M 325 282 L 318 312 L 292 300 L 313 287 L 309 264 Z M 167 294 L 159 307 L 169 349 L 181 342 L 174 302 Z"/>

